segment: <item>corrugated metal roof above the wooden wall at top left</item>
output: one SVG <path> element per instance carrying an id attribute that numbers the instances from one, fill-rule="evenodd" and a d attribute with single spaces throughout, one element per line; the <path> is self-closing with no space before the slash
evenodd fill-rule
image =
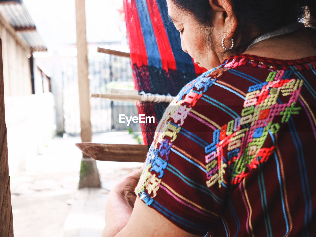
<path id="1" fill-rule="evenodd" d="M 47 50 L 22 0 L 0 0 L 0 13 L 21 35 L 32 51 Z"/>

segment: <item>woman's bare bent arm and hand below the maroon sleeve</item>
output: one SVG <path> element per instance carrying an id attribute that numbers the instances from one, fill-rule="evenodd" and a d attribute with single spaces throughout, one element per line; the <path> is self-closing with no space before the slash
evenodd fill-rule
<path id="1" fill-rule="evenodd" d="M 106 226 L 102 237 L 197 237 L 174 225 L 139 198 L 135 201 L 134 188 L 140 175 L 141 170 L 131 173 L 110 192 L 106 201 Z"/>

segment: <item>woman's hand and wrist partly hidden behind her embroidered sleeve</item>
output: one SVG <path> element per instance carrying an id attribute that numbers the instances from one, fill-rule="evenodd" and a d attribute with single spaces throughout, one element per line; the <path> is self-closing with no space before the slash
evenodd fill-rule
<path id="1" fill-rule="evenodd" d="M 142 172 L 143 168 L 125 176 L 109 193 L 105 204 L 106 226 L 102 237 L 115 236 L 129 221 L 137 197 L 134 189 Z"/>

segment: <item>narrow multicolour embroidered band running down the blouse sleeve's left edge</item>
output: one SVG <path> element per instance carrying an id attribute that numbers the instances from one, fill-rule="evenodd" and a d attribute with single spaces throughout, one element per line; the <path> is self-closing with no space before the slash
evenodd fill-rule
<path id="1" fill-rule="evenodd" d="M 216 80 L 215 78 L 210 80 L 210 76 L 221 76 L 223 71 L 226 70 L 227 69 L 218 67 L 216 70 L 212 70 L 211 72 L 208 71 L 207 73 L 202 74 L 196 80 L 187 84 L 186 87 L 180 91 L 176 100 L 171 102 L 167 107 L 164 116 L 155 132 L 154 142 L 150 146 L 149 152 L 147 154 L 145 165 L 146 168 L 144 169 L 138 185 L 135 188 L 135 193 L 137 195 L 139 194 L 142 200 L 146 199 L 145 203 L 147 205 L 152 204 L 152 198 L 156 196 L 156 192 L 159 189 L 159 184 L 161 183 L 164 169 L 167 168 L 167 161 L 169 159 L 168 155 L 170 153 L 173 141 L 176 140 L 177 134 L 181 130 L 180 126 L 184 123 L 184 120 L 191 108 L 195 106 L 197 100 L 202 96 L 202 93 L 198 94 L 194 92 L 193 88 L 199 88 L 202 91 L 207 91 Z M 182 97 L 185 97 L 183 100 L 179 100 L 181 95 Z M 159 157 L 159 154 L 161 157 Z M 155 185 L 154 189 L 152 188 L 154 178 L 151 172 L 157 173 L 157 177 L 155 176 L 155 184 L 158 185 Z M 144 192 L 145 189 L 148 191 L 147 193 Z M 150 195 L 152 189 L 153 192 L 152 195 Z"/>

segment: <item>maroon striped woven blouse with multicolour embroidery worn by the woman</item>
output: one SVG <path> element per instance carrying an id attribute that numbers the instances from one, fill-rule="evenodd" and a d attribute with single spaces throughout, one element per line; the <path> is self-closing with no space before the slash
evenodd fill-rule
<path id="1" fill-rule="evenodd" d="M 315 66 L 237 55 L 188 83 L 157 127 L 138 197 L 200 236 L 316 236 Z"/>

